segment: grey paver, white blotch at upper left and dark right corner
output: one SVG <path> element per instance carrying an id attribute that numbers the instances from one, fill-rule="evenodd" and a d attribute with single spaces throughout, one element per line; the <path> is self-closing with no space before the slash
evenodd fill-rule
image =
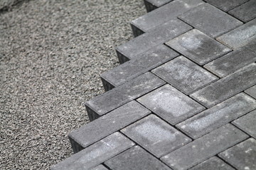
<path id="1" fill-rule="evenodd" d="M 166 42 L 166 45 L 201 65 L 230 52 L 228 47 L 196 29 Z"/>

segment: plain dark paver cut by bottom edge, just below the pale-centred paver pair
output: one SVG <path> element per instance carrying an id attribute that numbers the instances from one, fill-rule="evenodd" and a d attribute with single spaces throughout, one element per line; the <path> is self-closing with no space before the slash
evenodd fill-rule
<path id="1" fill-rule="evenodd" d="M 156 159 L 139 146 L 128 149 L 122 154 L 108 160 L 105 164 L 113 170 L 171 170 L 168 166 L 160 162 L 159 159 Z"/>

